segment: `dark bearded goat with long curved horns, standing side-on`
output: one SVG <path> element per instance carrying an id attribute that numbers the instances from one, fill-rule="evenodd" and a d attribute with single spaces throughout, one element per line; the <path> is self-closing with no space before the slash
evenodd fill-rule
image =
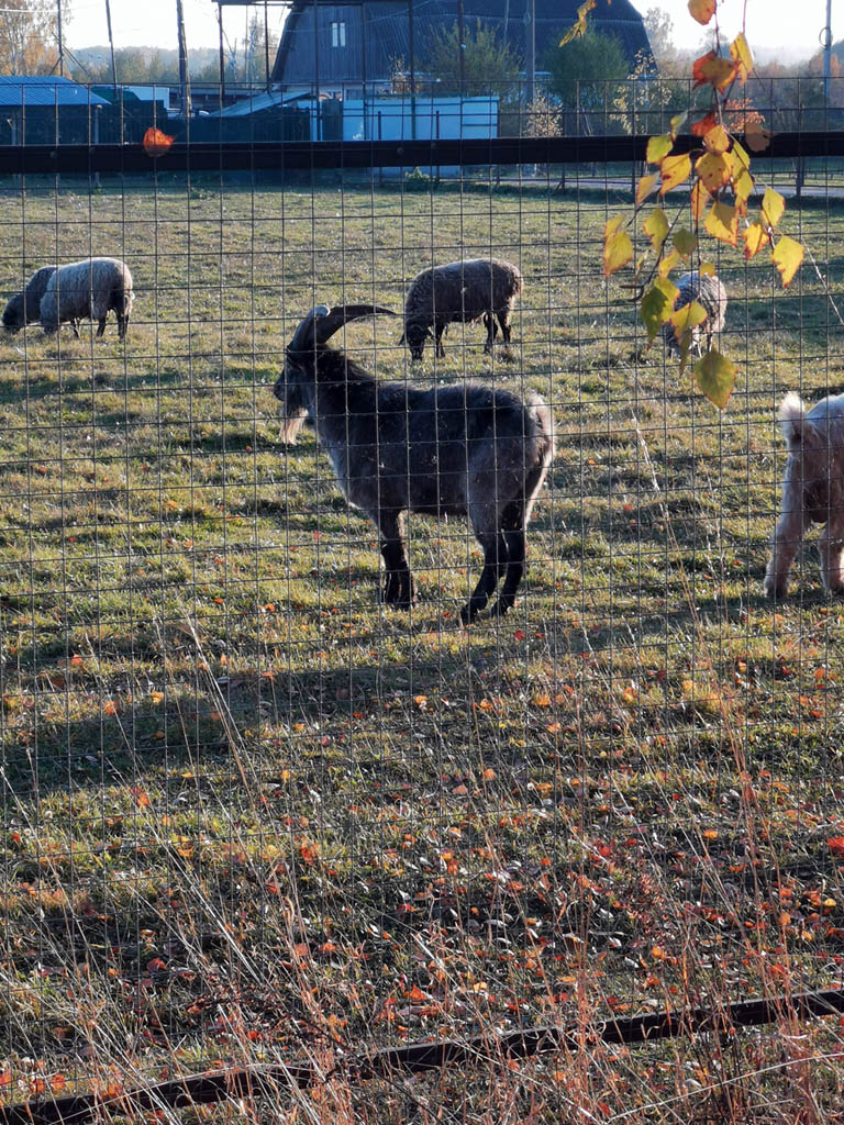
<path id="1" fill-rule="evenodd" d="M 407 512 L 468 516 L 484 569 L 460 611 L 470 622 L 504 576 L 494 614 L 515 601 L 524 572 L 524 532 L 554 457 L 554 422 L 538 395 L 524 399 L 479 384 L 420 390 L 379 382 L 327 346 L 348 321 L 374 305 L 318 305 L 287 346 L 273 393 L 285 424 L 313 421 L 345 498 L 378 528 L 386 568 L 384 601 L 414 601 L 407 562 Z"/>

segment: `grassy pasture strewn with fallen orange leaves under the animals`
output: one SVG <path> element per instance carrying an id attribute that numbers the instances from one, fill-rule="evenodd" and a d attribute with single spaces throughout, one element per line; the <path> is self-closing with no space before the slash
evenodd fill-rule
<path id="1" fill-rule="evenodd" d="M 0 198 L 3 290 L 89 253 L 136 286 L 125 346 L 0 341 L 7 1100 L 841 980 L 844 616 L 811 542 L 761 596 L 776 403 L 844 387 L 838 209 L 790 207 L 817 271 L 789 291 L 719 262 L 718 414 L 601 277 L 628 204 L 571 181 Z M 526 277 L 510 356 L 458 325 L 412 369 L 398 322 L 348 331 L 383 378 L 554 405 L 522 596 L 466 631 L 466 526 L 411 521 L 421 600 L 387 611 L 372 529 L 313 431 L 279 443 L 270 387 L 316 300 L 401 309 L 491 251 Z M 787 1032 L 515 1071 L 491 1034 L 475 1071 L 277 1116 L 837 1119 L 839 1027 Z"/>

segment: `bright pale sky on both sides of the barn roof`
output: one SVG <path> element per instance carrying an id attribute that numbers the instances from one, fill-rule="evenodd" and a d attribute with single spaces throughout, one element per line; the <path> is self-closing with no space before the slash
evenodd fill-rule
<path id="1" fill-rule="evenodd" d="M 176 47 L 174 0 L 110 0 L 111 27 L 116 47 Z M 514 0 L 515 4 L 519 0 Z M 679 47 L 697 46 L 704 34 L 689 15 L 686 0 L 632 0 L 643 14 L 658 7 L 667 11 L 674 24 L 674 43 Z M 72 19 L 66 29 L 71 47 L 108 43 L 105 0 L 69 0 Z M 188 47 L 217 45 L 217 6 L 213 0 L 183 0 L 185 29 Z M 728 38 L 742 27 L 744 0 L 721 0 L 719 19 Z M 837 12 L 835 9 L 838 9 Z M 223 9 L 224 27 L 231 43 L 243 38 L 249 12 L 262 12 L 261 7 Z M 284 9 L 269 8 L 271 30 L 278 30 Z M 819 35 L 826 24 L 826 0 L 747 0 L 747 40 L 763 58 L 779 51 L 783 61 L 808 58 L 819 47 Z M 844 38 L 844 3 L 833 4 L 833 40 Z"/>

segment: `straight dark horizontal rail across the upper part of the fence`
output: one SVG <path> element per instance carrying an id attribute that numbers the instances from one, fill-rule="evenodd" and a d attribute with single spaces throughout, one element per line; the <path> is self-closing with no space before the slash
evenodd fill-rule
<path id="1" fill-rule="evenodd" d="M 644 161 L 646 136 L 472 137 L 441 141 L 174 142 L 159 156 L 141 144 L 0 146 L 0 174 L 92 176 L 160 172 L 308 171 L 449 165 L 584 164 Z M 674 152 L 701 147 L 680 136 Z M 844 132 L 779 133 L 757 160 L 844 156 Z"/>

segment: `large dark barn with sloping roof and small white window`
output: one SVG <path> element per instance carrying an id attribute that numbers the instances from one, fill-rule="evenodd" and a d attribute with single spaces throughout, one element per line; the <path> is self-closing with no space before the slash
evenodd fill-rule
<path id="1" fill-rule="evenodd" d="M 533 0 L 538 64 L 558 33 L 577 18 L 581 0 Z M 528 0 L 464 0 L 466 27 L 482 20 L 494 26 L 501 42 L 524 58 Z M 325 3 L 294 0 L 285 22 L 272 81 L 285 86 L 340 89 L 347 83 L 384 83 L 395 60 L 420 60 L 432 36 L 457 22 L 458 0 L 357 0 Z M 614 35 L 632 68 L 639 52 L 650 55 L 641 16 L 630 0 L 598 0 L 589 25 Z M 411 34 L 413 50 L 411 50 Z M 413 56 L 413 57 L 412 57 Z"/>

